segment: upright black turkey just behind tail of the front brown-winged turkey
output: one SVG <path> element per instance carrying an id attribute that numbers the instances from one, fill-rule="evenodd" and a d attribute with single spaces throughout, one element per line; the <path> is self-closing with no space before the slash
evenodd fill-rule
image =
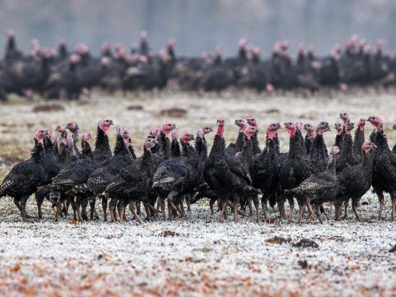
<path id="1" fill-rule="evenodd" d="M 285 123 L 285 128 L 290 135 L 289 141 L 289 153 L 287 158 L 280 163 L 279 169 L 279 182 L 280 182 L 280 193 L 277 196 L 277 203 L 279 212 L 282 218 L 286 219 L 285 212 L 285 201 L 286 199 L 290 204 L 290 214 L 288 222 L 293 222 L 293 210 L 294 210 L 294 192 L 286 192 L 285 190 L 291 190 L 296 188 L 303 180 L 311 175 L 309 159 L 302 153 L 301 142 L 296 136 L 296 125 L 288 121 Z M 327 129 L 328 127 L 321 127 L 319 131 Z M 327 130 L 326 130 L 327 131 Z M 315 145 L 315 144 L 314 144 Z M 312 154 L 312 151 L 311 151 Z M 300 213 L 301 209 L 304 208 L 304 204 L 297 199 Z"/>

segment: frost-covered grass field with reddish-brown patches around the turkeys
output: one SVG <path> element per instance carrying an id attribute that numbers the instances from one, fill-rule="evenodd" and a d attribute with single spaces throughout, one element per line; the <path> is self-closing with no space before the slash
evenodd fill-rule
<path id="1" fill-rule="evenodd" d="M 250 92 L 225 93 L 222 98 L 153 93 L 113 99 L 97 93 L 84 103 L 58 103 L 64 111 L 34 113 L 36 103 L 20 99 L 0 104 L 0 180 L 13 163 L 29 155 L 37 129 L 54 130 L 71 120 L 82 132 L 94 133 L 99 118 L 113 119 L 116 126 L 131 131 L 138 154 L 150 128 L 166 121 L 176 123 L 180 132 L 194 132 L 202 125 L 214 127 L 215 119 L 223 117 L 227 141 L 236 138 L 237 128 L 231 123 L 238 117 L 255 116 L 261 130 L 271 121 L 289 119 L 313 124 L 327 120 L 333 125 L 340 111 L 349 112 L 355 122 L 379 114 L 388 129 L 396 121 L 395 96 L 377 95 L 374 90 L 342 96 L 322 93 L 308 99 Z M 187 115 L 175 118 L 161 112 L 172 107 L 186 109 Z M 113 144 L 115 132 L 109 135 Z M 396 131 L 388 130 L 387 135 L 393 145 Z M 325 135 L 328 145 L 334 137 L 334 132 Z M 283 150 L 287 140 L 281 131 Z M 34 199 L 28 203 L 28 213 L 35 213 Z M 350 211 L 349 219 L 341 222 L 333 220 L 334 214 L 325 215 L 324 225 L 316 219 L 287 224 L 273 210 L 275 220 L 270 224 L 243 217 L 237 224 L 219 224 L 218 213 L 211 217 L 205 203 L 193 205 L 188 220 L 175 222 L 74 224 L 69 217 L 55 224 L 49 206 L 45 202 L 42 222 L 23 224 L 12 200 L 0 200 L 0 295 L 396 294 L 396 252 L 389 251 L 396 244 L 396 223 L 376 219 L 378 200 L 371 193 L 359 207 L 363 222 L 356 222 Z M 385 217 L 390 217 L 390 210 L 388 196 Z M 314 243 L 305 247 L 302 239 Z"/>

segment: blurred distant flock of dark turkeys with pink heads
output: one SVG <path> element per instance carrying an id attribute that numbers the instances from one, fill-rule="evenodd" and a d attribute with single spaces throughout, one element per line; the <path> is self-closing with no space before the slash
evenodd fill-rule
<path id="1" fill-rule="evenodd" d="M 352 36 L 344 46 L 335 45 L 326 57 L 315 55 L 312 47 L 299 45 L 292 59 L 288 42 L 276 42 L 269 59 L 260 49 L 240 40 L 234 57 L 223 57 L 218 47 L 214 55 L 176 55 L 176 43 L 169 42 L 158 54 L 150 50 L 147 33 L 130 50 L 117 44 L 103 45 L 95 57 L 86 44 L 70 51 L 62 41 L 57 51 L 31 42 L 25 54 L 17 49 L 14 33 L 6 32 L 7 44 L 0 54 L 0 100 L 10 93 L 32 99 L 79 99 L 99 87 L 110 94 L 136 90 L 164 89 L 199 92 L 227 88 L 250 88 L 258 92 L 301 89 L 315 92 L 321 86 L 347 90 L 348 86 L 388 87 L 396 84 L 395 57 L 384 50 L 384 42 L 370 45 Z"/>

